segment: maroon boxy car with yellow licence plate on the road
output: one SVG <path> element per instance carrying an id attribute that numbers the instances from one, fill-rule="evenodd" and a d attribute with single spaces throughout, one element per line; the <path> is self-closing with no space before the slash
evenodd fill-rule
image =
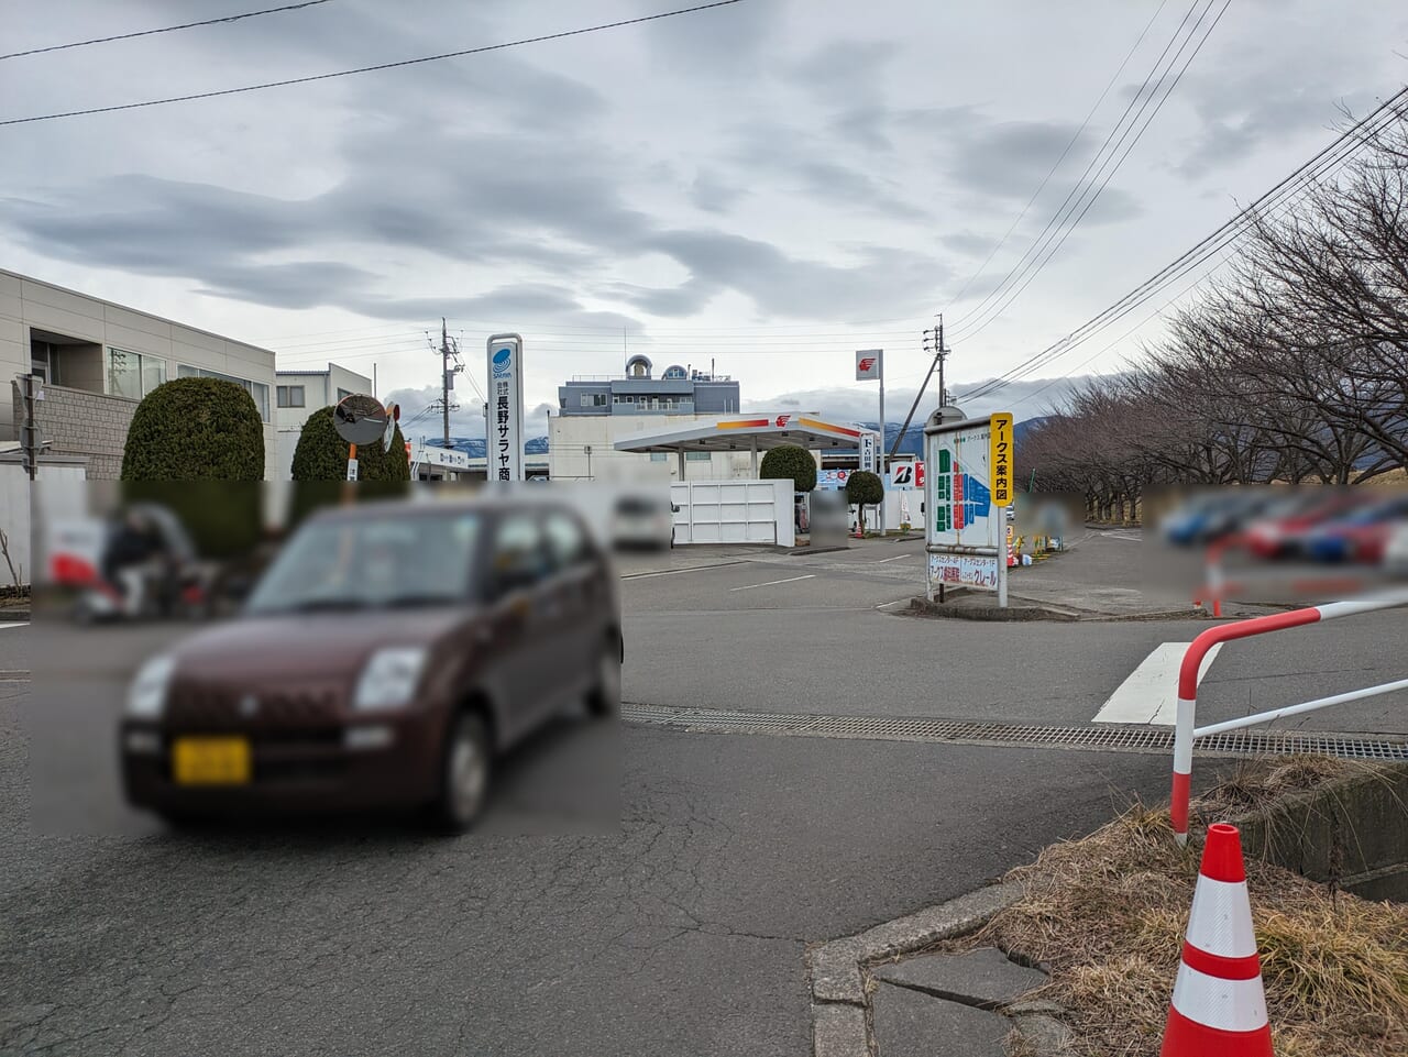
<path id="1" fill-rule="evenodd" d="M 480 815 L 500 753 L 620 701 L 607 555 L 536 500 L 367 504 L 304 522 L 242 614 L 148 660 L 127 798 L 172 819 L 427 806 Z"/>

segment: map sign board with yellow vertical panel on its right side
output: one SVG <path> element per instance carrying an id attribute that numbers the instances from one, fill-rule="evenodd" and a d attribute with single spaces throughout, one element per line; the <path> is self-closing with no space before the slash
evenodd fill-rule
<path id="1" fill-rule="evenodd" d="M 925 426 L 925 550 L 929 598 L 943 587 L 997 591 L 1007 604 L 1007 517 L 994 497 L 994 452 L 1012 459 L 1008 414 Z M 997 439 L 994 439 L 994 436 Z M 1005 445 L 1001 450 L 998 443 Z M 1010 501 L 1010 498 L 1008 498 Z"/>

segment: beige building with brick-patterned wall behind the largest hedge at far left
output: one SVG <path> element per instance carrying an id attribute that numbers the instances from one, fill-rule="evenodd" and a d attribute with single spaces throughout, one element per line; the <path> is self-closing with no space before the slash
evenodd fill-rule
<path id="1" fill-rule="evenodd" d="M 277 466 L 273 352 L 194 327 L 0 270 L 0 441 L 18 438 L 21 374 L 44 383 L 35 421 L 58 462 L 90 480 L 122 470 L 127 428 L 141 398 L 168 379 L 218 377 L 253 397 L 265 422 L 265 479 Z M 41 473 L 44 459 L 39 462 Z"/>

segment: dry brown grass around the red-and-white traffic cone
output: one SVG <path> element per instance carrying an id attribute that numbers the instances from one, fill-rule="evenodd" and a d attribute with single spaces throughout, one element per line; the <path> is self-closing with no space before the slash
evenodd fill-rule
<path id="1" fill-rule="evenodd" d="M 1311 757 L 1247 768 L 1232 788 L 1200 801 L 1200 814 L 1260 805 L 1345 770 Z M 1010 880 L 1026 882 L 1026 898 L 950 946 L 993 944 L 1048 963 L 1042 996 L 1071 1011 L 1077 1051 L 1153 1057 L 1193 905 L 1200 836 L 1197 847 L 1180 849 L 1166 809 L 1133 806 L 1014 870 Z M 1247 881 L 1277 1054 L 1408 1053 L 1408 906 L 1333 894 L 1255 860 Z"/>

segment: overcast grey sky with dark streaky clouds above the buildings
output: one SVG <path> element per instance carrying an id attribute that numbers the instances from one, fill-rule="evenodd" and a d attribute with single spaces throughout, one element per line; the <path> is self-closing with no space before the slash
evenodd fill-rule
<path id="1" fill-rule="evenodd" d="M 0 51 L 276 1 L 6 0 Z M 0 61 L 0 120 L 681 6 L 332 0 Z M 977 332 L 974 310 L 1188 11 L 1188 0 L 745 0 L 315 84 L 0 127 L 0 265 L 265 345 L 280 367 L 332 359 L 370 374 L 375 363 L 383 395 L 424 400 L 438 380 L 425 334 L 438 338 L 441 315 L 480 387 L 487 335 L 525 335 L 529 408 L 555 407 L 573 374 L 620 373 L 624 353 L 645 352 L 659 369 L 714 363 L 742 381 L 745 407 L 874 418 L 853 350 L 884 348 L 887 417 L 901 419 L 936 312 L 962 395 L 1307 160 L 1342 108 L 1363 114 L 1408 79 L 1401 0 L 1232 0 L 1080 227 Z M 1038 414 L 1062 391 L 1052 379 L 1118 369 L 1157 339 L 1157 317 L 1138 324 L 1183 286 L 967 410 Z M 465 376 L 459 398 L 456 432 L 480 432 Z"/>

